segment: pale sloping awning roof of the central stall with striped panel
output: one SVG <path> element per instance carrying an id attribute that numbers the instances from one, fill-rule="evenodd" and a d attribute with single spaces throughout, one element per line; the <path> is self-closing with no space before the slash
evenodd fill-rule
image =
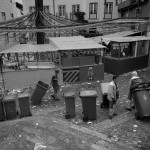
<path id="1" fill-rule="evenodd" d="M 55 44 L 59 50 L 82 50 L 82 49 L 103 49 L 103 45 L 97 44 L 82 36 L 52 37 L 50 43 Z"/>

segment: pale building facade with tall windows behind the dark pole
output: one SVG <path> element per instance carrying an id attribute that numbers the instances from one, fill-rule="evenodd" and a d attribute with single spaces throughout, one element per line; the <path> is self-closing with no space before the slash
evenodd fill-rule
<path id="1" fill-rule="evenodd" d="M 75 12 L 84 12 L 88 22 L 118 18 L 116 0 L 43 0 L 45 12 L 75 20 Z M 35 10 L 35 0 L 23 0 L 24 14 Z"/>

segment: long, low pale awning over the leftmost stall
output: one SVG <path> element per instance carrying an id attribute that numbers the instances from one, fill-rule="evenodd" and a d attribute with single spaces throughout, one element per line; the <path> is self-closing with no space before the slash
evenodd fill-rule
<path id="1" fill-rule="evenodd" d="M 50 44 L 39 44 L 39 45 L 32 45 L 32 44 L 17 44 L 9 49 L 3 50 L 0 52 L 2 53 L 35 53 L 35 52 L 54 52 L 57 51 L 58 48 L 54 45 Z"/>

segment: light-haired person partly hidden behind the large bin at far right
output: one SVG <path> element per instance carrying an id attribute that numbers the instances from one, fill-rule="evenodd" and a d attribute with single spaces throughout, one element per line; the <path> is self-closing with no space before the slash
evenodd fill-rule
<path id="1" fill-rule="evenodd" d="M 133 103 L 133 99 L 132 99 L 132 95 L 131 95 L 131 92 L 130 92 L 131 85 L 134 82 L 134 80 L 139 79 L 139 76 L 137 75 L 136 71 L 133 71 L 131 74 L 132 74 L 132 77 L 129 81 L 129 94 L 128 94 L 128 99 L 130 100 L 130 102 L 129 102 L 129 107 L 125 108 L 126 110 L 129 110 L 129 111 L 132 111 L 132 109 L 135 108 L 134 103 Z"/>

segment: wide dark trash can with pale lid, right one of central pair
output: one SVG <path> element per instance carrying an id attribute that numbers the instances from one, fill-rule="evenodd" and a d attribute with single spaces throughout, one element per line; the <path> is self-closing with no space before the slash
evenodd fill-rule
<path id="1" fill-rule="evenodd" d="M 96 120 L 96 97 L 95 90 L 81 91 L 79 97 L 82 100 L 83 121 Z"/>

